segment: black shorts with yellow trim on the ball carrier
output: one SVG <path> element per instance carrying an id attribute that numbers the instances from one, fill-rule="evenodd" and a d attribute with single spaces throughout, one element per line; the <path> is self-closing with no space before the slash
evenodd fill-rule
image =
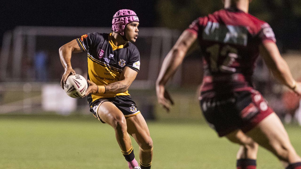
<path id="1" fill-rule="evenodd" d="M 115 97 L 101 98 L 95 100 L 92 103 L 90 112 L 92 112 L 94 117 L 97 118 L 102 123 L 105 122 L 101 120 L 101 117 L 99 117 L 97 112 L 99 106 L 104 102 L 113 103 L 123 113 L 125 118 L 132 117 L 140 113 L 140 111 L 137 109 L 136 103 L 132 100 L 131 96 L 115 96 Z"/>

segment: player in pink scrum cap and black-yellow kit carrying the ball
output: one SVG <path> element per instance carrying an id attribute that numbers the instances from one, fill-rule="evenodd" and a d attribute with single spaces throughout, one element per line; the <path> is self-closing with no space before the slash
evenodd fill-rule
<path id="1" fill-rule="evenodd" d="M 65 68 L 61 80 L 75 74 L 71 54 L 88 51 L 88 90 L 90 111 L 102 123 L 111 125 L 130 169 L 139 169 L 129 134 L 140 147 L 141 169 L 150 169 L 153 141 L 147 124 L 127 91 L 140 68 L 140 55 L 132 43 L 138 38 L 139 19 L 134 11 L 116 12 L 111 33 L 88 33 L 59 50 Z"/>

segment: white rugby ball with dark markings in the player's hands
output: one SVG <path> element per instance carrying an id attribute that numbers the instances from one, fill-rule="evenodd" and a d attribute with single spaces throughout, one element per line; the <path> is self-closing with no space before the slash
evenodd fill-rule
<path id="1" fill-rule="evenodd" d="M 70 75 L 64 84 L 64 90 L 68 96 L 81 98 L 85 95 L 88 88 L 86 79 L 82 75 Z"/>

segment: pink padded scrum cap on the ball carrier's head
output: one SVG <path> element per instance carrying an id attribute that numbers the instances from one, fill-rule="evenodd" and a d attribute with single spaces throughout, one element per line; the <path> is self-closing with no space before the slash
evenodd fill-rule
<path id="1" fill-rule="evenodd" d="M 139 22 L 136 13 L 129 9 L 119 10 L 113 17 L 112 30 L 124 36 L 124 28 L 131 22 Z"/>

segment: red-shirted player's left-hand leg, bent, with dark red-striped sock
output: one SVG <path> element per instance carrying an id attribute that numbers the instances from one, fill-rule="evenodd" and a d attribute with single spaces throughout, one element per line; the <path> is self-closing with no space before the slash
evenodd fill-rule
<path id="1" fill-rule="evenodd" d="M 237 152 L 237 169 L 255 169 L 258 144 L 241 130 L 233 131 L 226 137 L 231 142 L 241 145 Z"/>

